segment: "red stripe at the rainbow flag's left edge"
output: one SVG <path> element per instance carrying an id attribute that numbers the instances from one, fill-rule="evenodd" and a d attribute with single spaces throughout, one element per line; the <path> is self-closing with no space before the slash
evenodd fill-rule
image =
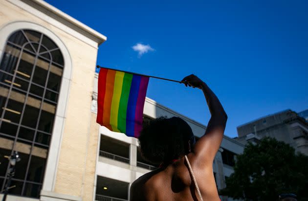
<path id="1" fill-rule="evenodd" d="M 97 117 L 96 122 L 103 125 L 103 108 L 106 93 L 106 68 L 101 68 L 98 74 L 98 86 L 97 86 Z"/>

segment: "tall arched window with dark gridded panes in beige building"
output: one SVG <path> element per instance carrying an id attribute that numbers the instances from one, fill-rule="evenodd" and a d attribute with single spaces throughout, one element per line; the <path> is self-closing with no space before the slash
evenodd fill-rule
<path id="1" fill-rule="evenodd" d="M 33 30 L 14 32 L 0 62 L 0 189 L 8 159 L 18 151 L 9 194 L 38 198 L 44 179 L 64 59 L 58 46 Z"/>

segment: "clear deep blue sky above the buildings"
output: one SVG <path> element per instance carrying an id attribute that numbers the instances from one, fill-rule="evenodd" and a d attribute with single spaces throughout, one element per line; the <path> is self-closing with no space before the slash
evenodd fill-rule
<path id="1" fill-rule="evenodd" d="M 194 73 L 228 114 L 225 134 L 259 117 L 308 109 L 306 0 L 46 0 L 108 37 L 97 64 L 181 80 Z M 149 45 L 139 55 L 132 46 Z M 150 79 L 147 96 L 207 124 L 203 94 Z"/>

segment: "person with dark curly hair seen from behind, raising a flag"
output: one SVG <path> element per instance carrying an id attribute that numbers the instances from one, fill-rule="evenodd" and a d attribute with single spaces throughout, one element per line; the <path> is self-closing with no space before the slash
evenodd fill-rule
<path id="1" fill-rule="evenodd" d="M 220 201 L 213 161 L 227 114 L 213 91 L 197 76 L 189 75 L 181 83 L 204 93 L 211 113 L 205 134 L 195 143 L 192 129 L 178 117 L 161 117 L 145 126 L 138 138 L 141 153 L 160 166 L 132 183 L 130 201 Z"/>

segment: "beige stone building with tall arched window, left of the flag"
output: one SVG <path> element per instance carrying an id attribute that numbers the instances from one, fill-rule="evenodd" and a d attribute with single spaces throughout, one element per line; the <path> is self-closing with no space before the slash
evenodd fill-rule
<path id="1" fill-rule="evenodd" d="M 106 40 L 42 0 L 0 1 L 1 189 L 3 156 L 16 150 L 9 193 L 92 200 L 98 125 L 90 108 Z"/>

